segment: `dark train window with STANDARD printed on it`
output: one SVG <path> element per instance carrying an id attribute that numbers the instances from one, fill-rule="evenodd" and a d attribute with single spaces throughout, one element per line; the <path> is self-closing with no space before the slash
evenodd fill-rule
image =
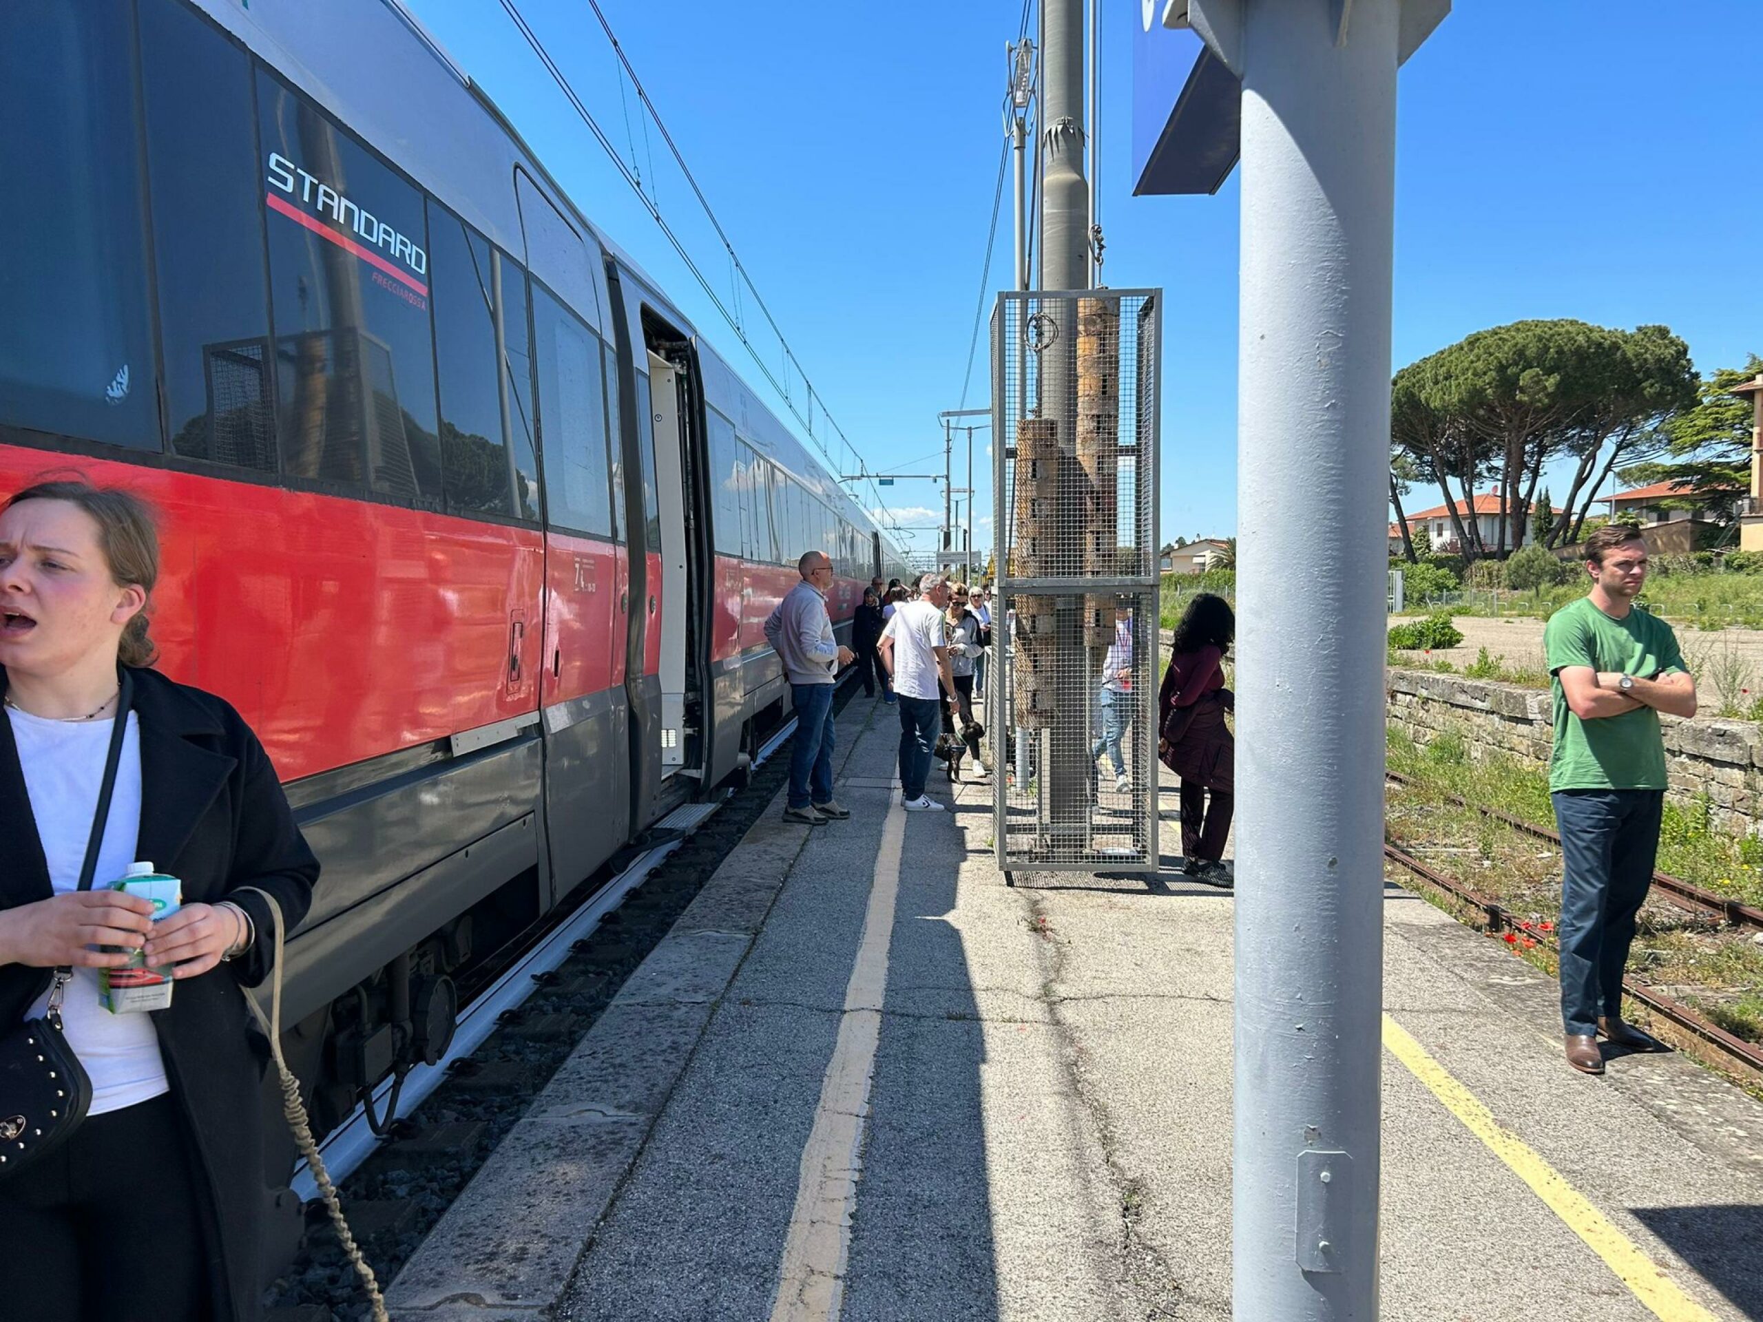
<path id="1" fill-rule="evenodd" d="M 282 472 L 439 506 L 421 194 L 257 72 Z"/>

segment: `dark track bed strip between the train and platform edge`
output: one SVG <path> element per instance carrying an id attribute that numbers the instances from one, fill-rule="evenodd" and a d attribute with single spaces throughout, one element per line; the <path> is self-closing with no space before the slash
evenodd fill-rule
<path id="1" fill-rule="evenodd" d="M 841 684 L 836 702 L 843 705 L 850 694 L 852 686 Z M 772 758 L 792 733 L 793 717 L 760 746 L 746 788 L 698 806 L 710 811 L 675 839 L 633 858 L 460 1012 L 448 1054 L 405 1075 L 398 1119 L 383 1125 L 390 1139 L 374 1135 L 356 1107 L 321 1144 L 383 1285 L 765 811 L 786 772 Z M 376 1089 L 381 1114 L 390 1093 L 390 1081 Z M 425 1103 L 421 1123 L 409 1119 Z M 316 1197 L 303 1165 L 294 1190 Z M 319 1218 L 309 1222 L 296 1260 L 272 1289 L 266 1322 L 331 1317 L 354 1322 L 367 1313 Z"/>

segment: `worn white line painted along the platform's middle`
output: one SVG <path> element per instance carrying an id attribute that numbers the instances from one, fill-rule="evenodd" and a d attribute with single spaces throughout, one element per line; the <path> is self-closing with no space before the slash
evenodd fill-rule
<path id="1" fill-rule="evenodd" d="M 894 901 L 899 895 L 899 858 L 906 839 L 906 811 L 899 790 L 889 795 L 882 848 L 869 883 L 869 910 L 857 964 L 844 987 L 844 1014 L 820 1084 L 815 1128 L 802 1149 L 795 1211 L 783 1244 L 772 1322 L 834 1322 L 844 1301 L 844 1264 L 852 1246 L 852 1211 L 862 1177 L 859 1149 L 869 1118 L 869 1081 L 882 1036 L 882 1001 L 887 996 L 887 952 L 894 936 Z"/>

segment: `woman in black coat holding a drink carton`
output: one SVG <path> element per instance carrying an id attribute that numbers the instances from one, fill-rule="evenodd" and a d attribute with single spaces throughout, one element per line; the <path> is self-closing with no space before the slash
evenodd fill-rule
<path id="1" fill-rule="evenodd" d="M 63 1017 L 93 1082 L 72 1137 L 0 1179 L 0 1244 L 28 1264 L 7 1273 L 4 1311 L 33 1322 L 259 1315 L 268 1045 L 243 989 L 270 971 L 273 925 L 240 888 L 273 894 L 293 929 L 319 867 L 238 712 L 150 668 L 157 573 L 152 520 L 127 492 L 39 483 L 0 511 L 0 1026 L 39 1014 L 51 969 L 74 964 Z M 69 873 L 100 779 L 81 779 L 81 747 L 99 724 L 108 746 L 125 670 L 116 795 L 81 894 Z M 155 925 L 145 901 L 104 890 L 116 858 L 180 878 L 182 908 Z M 175 966 L 171 1006 L 76 1014 L 95 969 L 123 959 L 99 947 L 143 938 L 150 964 Z"/>

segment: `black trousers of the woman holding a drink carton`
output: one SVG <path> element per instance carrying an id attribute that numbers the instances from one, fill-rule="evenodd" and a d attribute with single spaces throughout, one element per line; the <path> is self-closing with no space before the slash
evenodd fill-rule
<path id="1" fill-rule="evenodd" d="M 203 1214 L 169 1095 L 90 1116 L 0 1183 L 0 1315 L 30 1322 L 201 1322 Z"/>

